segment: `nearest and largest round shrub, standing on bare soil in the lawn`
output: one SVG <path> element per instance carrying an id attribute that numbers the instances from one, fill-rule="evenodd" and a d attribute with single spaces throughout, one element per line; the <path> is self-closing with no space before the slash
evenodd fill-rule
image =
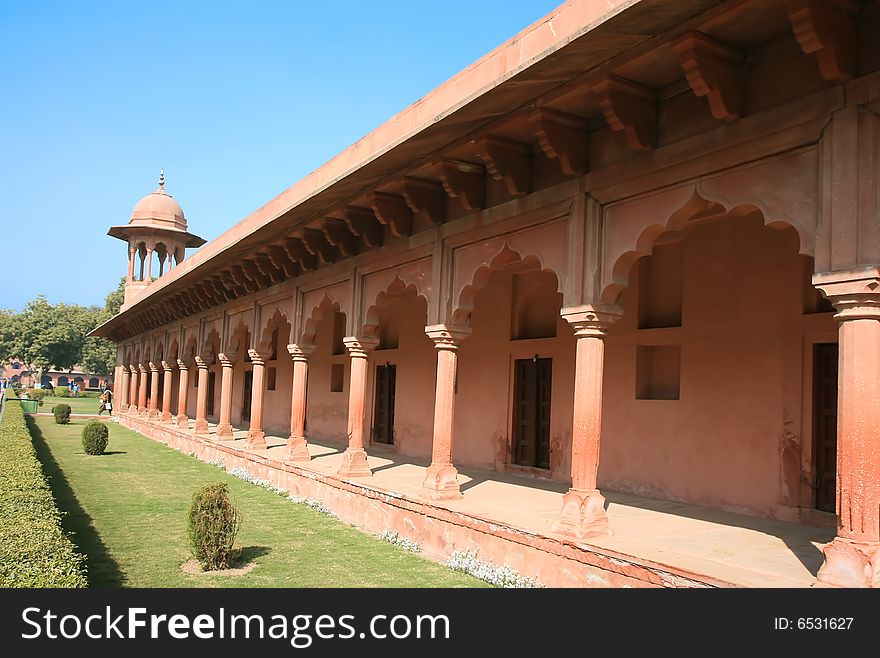
<path id="1" fill-rule="evenodd" d="M 193 494 L 188 516 L 193 556 L 205 571 L 228 569 L 232 544 L 241 526 L 241 512 L 229 499 L 223 482 L 208 484 Z"/>

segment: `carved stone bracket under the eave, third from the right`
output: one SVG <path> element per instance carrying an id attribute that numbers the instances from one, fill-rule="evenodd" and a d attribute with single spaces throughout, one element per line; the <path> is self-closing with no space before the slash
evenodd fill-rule
<path id="1" fill-rule="evenodd" d="M 594 88 L 605 120 L 623 131 L 629 145 L 645 151 L 657 142 L 657 102 L 654 92 L 642 85 L 610 77 Z"/>

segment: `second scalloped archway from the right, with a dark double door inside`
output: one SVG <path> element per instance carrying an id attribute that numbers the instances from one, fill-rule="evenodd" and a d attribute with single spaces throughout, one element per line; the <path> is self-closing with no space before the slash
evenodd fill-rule
<path id="1" fill-rule="evenodd" d="M 459 350 L 457 461 L 570 476 L 575 342 L 558 288 L 536 258 L 506 250 L 463 291 L 457 317 L 472 334 Z"/>

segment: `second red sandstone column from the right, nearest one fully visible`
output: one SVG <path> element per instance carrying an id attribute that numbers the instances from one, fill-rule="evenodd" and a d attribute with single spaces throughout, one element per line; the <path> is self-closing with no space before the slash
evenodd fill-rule
<path id="1" fill-rule="evenodd" d="M 605 333 L 620 318 L 618 309 L 584 306 L 563 309 L 577 338 L 574 371 L 574 419 L 571 432 L 571 489 L 553 525 L 575 539 L 608 534 L 605 497 L 596 488 L 602 437 L 602 373 Z"/>

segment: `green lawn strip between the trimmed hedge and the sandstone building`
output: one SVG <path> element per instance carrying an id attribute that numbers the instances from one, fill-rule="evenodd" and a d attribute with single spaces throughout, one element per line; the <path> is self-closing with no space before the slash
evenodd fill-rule
<path id="1" fill-rule="evenodd" d="M 85 455 L 86 422 L 28 419 L 93 587 L 486 586 L 116 423 L 108 423 L 107 454 Z M 238 576 L 185 574 L 186 511 L 193 492 L 216 481 L 242 510 L 236 546 L 255 567 Z"/>

